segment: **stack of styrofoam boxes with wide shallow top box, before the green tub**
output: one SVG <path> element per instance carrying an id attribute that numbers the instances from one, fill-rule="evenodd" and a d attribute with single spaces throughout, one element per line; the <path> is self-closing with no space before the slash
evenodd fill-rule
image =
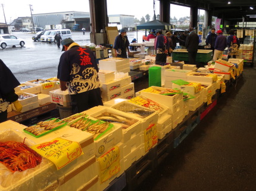
<path id="1" fill-rule="evenodd" d="M 216 88 L 217 88 L 216 74 L 192 72 L 191 74 L 188 75 L 188 81 L 201 83 L 201 86 L 204 90 L 204 96 L 203 96 L 204 102 L 207 102 L 207 96 L 209 91 L 211 91 L 211 96 L 216 94 Z"/>

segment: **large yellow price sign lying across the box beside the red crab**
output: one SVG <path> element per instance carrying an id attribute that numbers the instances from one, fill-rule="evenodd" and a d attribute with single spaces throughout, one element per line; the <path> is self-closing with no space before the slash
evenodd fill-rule
<path id="1" fill-rule="evenodd" d="M 82 148 L 78 142 L 62 138 L 56 138 L 31 148 L 43 157 L 51 160 L 56 165 L 57 170 L 83 155 Z"/>

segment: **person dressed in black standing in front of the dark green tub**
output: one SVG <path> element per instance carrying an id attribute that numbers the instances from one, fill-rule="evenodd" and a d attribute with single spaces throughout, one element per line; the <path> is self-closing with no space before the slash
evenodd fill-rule
<path id="1" fill-rule="evenodd" d="M 196 54 L 198 50 L 199 37 L 193 30 L 193 28 L 189 28 L 189 35 L 186 37 L 186 49 L 188 50 L 189 55 L 189 63 L 195 64 Z"/>

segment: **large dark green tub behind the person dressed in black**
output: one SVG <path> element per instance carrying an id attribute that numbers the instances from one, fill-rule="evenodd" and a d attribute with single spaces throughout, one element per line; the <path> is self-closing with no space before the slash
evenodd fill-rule
<path id="1" fill-rule="evenodd" d="M 173 50 L 173 61 L 189 61 L 188 51 L 186 49 Z M 213 50 L 198 50 L 196 62 L 209 62 L 213 59 Z"/>

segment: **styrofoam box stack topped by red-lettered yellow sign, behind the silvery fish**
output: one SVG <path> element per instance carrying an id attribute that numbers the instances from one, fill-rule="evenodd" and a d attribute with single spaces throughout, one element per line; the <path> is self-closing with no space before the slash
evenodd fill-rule
<path id="1" fill-rule="evenodd" d="M 130 100 L 132 103 L 138 104 L 139 106 L 144 106 L 148 105 L 148 101 L 152 101 L 149 98 L 145 97 L 145 96 L 137 96 L 135 98 L 133 98 L 132 100 Z M 154 101 L 155 103 L 157 103 L 156 101 Z M 168 132 L 171 131 L 172 129 L 172 125 L 171 125 L 171 115 L 168 114 L 168 107 L 157 103 L 163 110 L 159 111 L 159 110 L 155 110 L 158 113 L 158 120 L 157 120 L 157 138 L 158 139 L 163 139 L 164 136 L 166 136 L 166 134 Z M 146 107 L 148 108 L 148 107 Z M 152 108 L 154 109 L 154 108 Z"/>

